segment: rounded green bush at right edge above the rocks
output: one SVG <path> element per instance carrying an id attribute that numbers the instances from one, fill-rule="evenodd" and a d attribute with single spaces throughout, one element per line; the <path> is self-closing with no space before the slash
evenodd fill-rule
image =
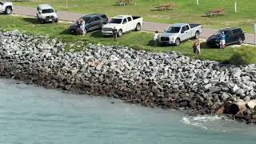
<path id="1" fill-rule="evenodd" d="M 239 48 L 232 57 L 230 63 L 234 65 L 249 65 L 256 63 L 256 47 L 245 46 Z"/>

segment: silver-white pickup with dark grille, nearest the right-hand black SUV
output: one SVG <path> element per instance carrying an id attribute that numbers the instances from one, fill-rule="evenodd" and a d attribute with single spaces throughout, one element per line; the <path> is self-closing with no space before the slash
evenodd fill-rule
<path id="1" fill-rule="evenodd" d="M 182 41 L 189 38 L 199 38 L 202 33 L 202 25 L 200 24 L 187 24 L 176 23 L 169 26 L 161 35 L 161 44 L 174 44 L 179 46 Z"/>

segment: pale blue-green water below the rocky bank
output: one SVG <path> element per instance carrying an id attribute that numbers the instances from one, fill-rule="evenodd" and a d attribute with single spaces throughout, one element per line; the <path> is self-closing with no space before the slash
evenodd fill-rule
<path id="1" fill-rule="evenodd" d="M 111 102 L 114 102 L 111 103 Z M 255 144 L 256 126 L 0 79 L 1 144 Z"/>

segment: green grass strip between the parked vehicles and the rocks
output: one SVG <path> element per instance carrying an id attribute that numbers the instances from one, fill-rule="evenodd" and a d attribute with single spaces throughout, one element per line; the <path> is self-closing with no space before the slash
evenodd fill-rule
<path id="1" fill-rule="evenodd" d="M 101 31 L 94 31 L 85 36 L 78 36 L 67 33 L 66 29 L 69 24 L 65 23 L 47 23 L 39 24 L 37 18 L 22 18 L 8 15 L 0 15 L 0 30 L 20 30 L 28 34 L 50 35 L 52 38 L 60 38 L 66 42 L 92 42 L 94 44 L 101 43 L 103 45 L 122 45 L 134 47 L 137 50 L 149 50 L 154 52 L 177 51 L 182 54 L 194 57 L 192 53 L 193 40 L 183 42 L 180 46 L 153 46 L 153 34 L 149 32 L 130 32 L 124 34 L 122 38 L 118 38 L 117 42 L 111 37 L 103 37 Z M 82 50 L 82 49 L 77 49 Z M 202 58 L 214 61 L 230 62 L 230 58 L 236 54 L 238 48 L 231 46 L 224 50 L 209 48 L 202 43 Z"/>

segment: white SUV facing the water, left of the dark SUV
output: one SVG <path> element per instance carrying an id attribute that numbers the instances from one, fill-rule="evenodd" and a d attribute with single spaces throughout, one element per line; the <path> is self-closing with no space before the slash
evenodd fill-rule
<path id="1" fill-rule="evenodd" d="M 39 22 L 58 22 L 57 10 L 54 10 L 49 4 L 40 4 L 37 8 L 37 17 Z"/>

